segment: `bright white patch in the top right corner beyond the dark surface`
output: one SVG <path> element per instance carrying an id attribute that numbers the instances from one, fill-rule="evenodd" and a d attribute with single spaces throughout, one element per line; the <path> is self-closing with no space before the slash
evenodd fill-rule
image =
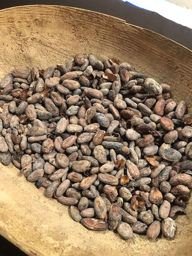
<path id="1" fill-rule="evenodd" d="M 122 0 L 146 10 L 155 11 L 161 16 L 192 29 L 192 9 L 180 7 L 166 0 Z M 191 0 L 192 1 L 192 0 Z"/>

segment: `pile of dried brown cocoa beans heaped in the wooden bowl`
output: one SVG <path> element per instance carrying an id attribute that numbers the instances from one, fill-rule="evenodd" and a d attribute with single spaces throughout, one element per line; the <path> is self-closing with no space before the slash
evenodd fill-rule
<path id="1" fill-rule="evenodd" d="M 77 54 L 46 70 L 15 69 L 0 90 L 2 164 L 87 229 L 174 238 L 192 189 L 192 115 L 170 85 Z"/>

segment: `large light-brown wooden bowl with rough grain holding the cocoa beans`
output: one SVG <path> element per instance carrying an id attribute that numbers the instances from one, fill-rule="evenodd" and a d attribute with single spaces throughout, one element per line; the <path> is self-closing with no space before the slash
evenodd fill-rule
<path id="1" fill-rule="evenodd" d="M 115 57 L 133 70 L 171 85 L 176 101 L 192 112 L 192 52 L 152 31 L 83 9 L 31 5 L 0 11 L 0 78 L 14 68 L 46 68 L 75 54 Z M 44 189 L 0 166 L 0 234 L 28 255 L 192 255 L 192 199 L 176 220 L 174 240 L 151 242 L 134 234 L 123 240 L 112 231 L 89 231 L 74 222 L 68 207 L 45 197 Z"/>

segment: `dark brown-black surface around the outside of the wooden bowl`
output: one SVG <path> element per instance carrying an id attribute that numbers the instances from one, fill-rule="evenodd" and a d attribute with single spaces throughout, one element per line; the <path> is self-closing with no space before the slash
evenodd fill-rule
<path id="1" fill-rule="evenodd" d="M 140 9 L 121 0 L 7 0 L 0 1 L 0 9 L 27 4 L 56 4 L 105 13 L 126 20 L 127 23 L 155 31 L 192 50 L 192 29 L 168 20 L 158 13 Z M 26 254 L 0 236 L 0 256 L 26 256 Z"/>

